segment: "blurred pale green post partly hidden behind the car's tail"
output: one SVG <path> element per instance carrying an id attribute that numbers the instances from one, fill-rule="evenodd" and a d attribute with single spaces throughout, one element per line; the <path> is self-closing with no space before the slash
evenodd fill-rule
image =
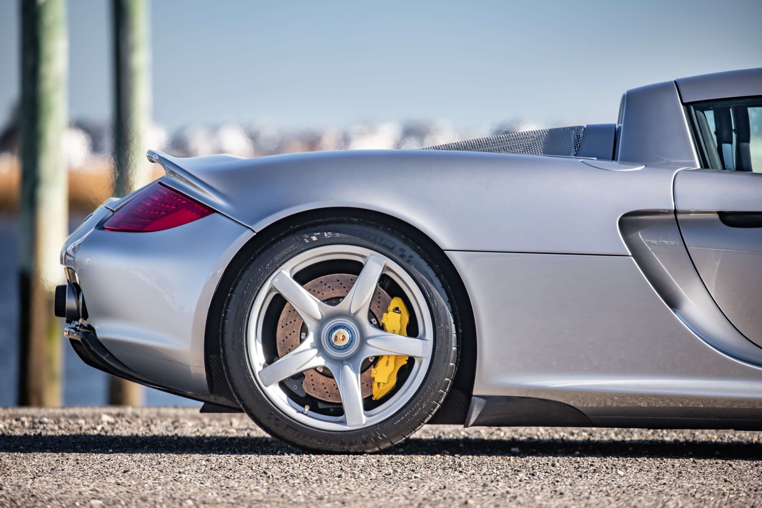
<path id="1" fill-rule="evenodd" d="M 146 131 L 151 115 L 149 0 L 112 0 L 114 30 L 114 195 L 149 182 Z M 142 387 L 112 377 L 109 403 L 138 406 Z"/>

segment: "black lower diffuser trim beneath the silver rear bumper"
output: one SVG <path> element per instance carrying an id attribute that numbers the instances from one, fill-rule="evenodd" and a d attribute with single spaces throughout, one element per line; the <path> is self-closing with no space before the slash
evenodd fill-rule
<path id="1" fill-rule="evenodd" d="M 77 353 L 79 358 L 87 363 L 88 366 L 102 370 L 111 375 L 116 375 L 127 381 L 136 382 L 139 385 L 156 388 L 157 390 L 166 391 L 167 393 L 174 395 L 181 395 L 181 397 L 191 398 L 194 401 L 211 403 L 233 411 L 239 411 L 238 404 L 235 404 L 235 401 L 229 401 L 226 398 L 218 397 L 216 395 L 199 395 L 187 391 L 174 390 L 146 379 L 142 375 L 133 371 L 133 369 L 130 369 L 130 367 L 121 363 L 120 360 L 111 354 L 101 341 L 98 340 L 98 336 L 95 332 L 86 325 L 73 324 L 71 327 L 66 327 L 63 334 L 69 339 L 69 343 L 72 344 L 75 353 Z"/>

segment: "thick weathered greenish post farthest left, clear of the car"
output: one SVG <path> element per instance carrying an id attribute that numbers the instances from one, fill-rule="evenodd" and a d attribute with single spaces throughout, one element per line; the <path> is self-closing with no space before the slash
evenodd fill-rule
<path id="1" fill-rule="evenodd" d="M 65 0 L 21 0 L 21 405 L 61 404 L 62 323 L 53 315 L 53 294 L 63 280 L 59 252 L 68 234 L 68 50 Z"/>

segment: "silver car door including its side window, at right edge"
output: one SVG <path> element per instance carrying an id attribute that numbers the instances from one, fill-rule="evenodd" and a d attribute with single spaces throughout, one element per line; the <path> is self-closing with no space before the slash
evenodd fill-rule
<path id="1" fill-rule="evenodd" d="M 762 347 L 762 98 L 687 111 L 708 169 L 675 177 L 680 233 L 725 317 Z"/>

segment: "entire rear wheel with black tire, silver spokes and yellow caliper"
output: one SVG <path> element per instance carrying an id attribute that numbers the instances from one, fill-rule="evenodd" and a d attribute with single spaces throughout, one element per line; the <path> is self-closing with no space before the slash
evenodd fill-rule
<path id="1" fill-rule="evenodd" d="M 242 409 L 313 450 L 370 452 L 418 430 L 447 395 L 457 359 L 447 282 L 427 253 L 360 220 L 258 237 L 223 288 L 219 321 Z"/>

